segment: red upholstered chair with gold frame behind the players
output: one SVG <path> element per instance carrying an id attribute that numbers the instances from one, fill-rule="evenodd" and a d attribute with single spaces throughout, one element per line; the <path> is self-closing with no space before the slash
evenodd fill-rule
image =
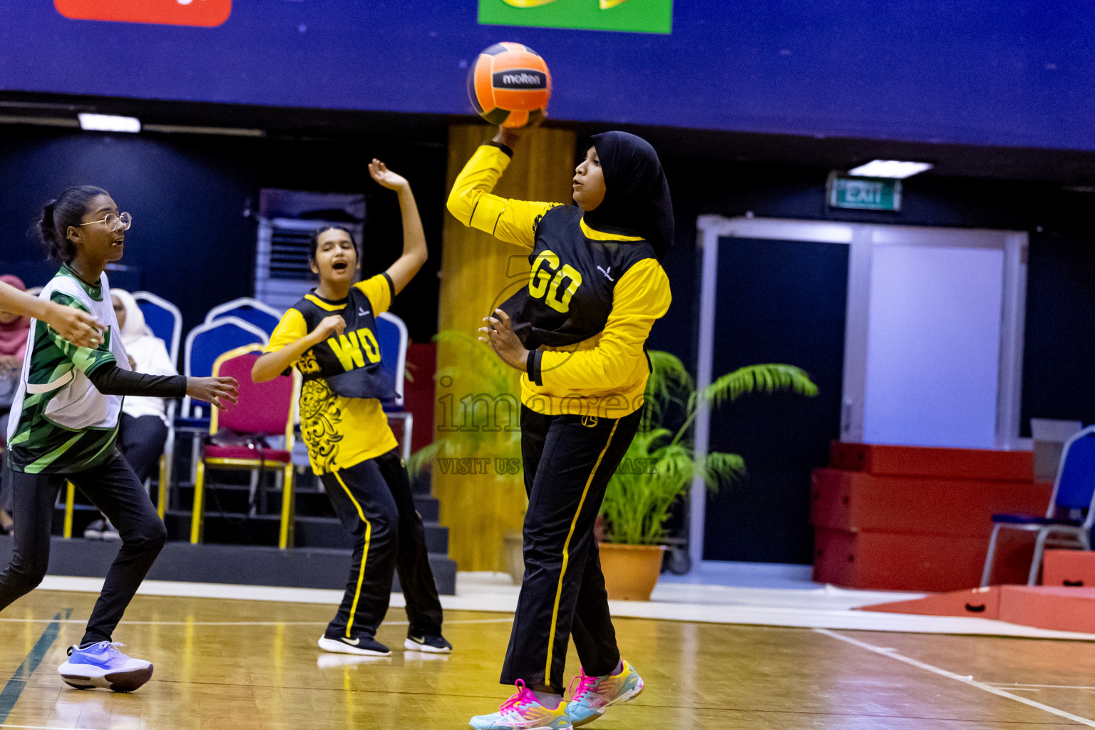
<path id="1" fill-rule="evenodd" d="M 281 474 L 281 528 L 278 547 L 292 544 L 292 426 L 297 408 L 296 371 L 265 383 L 251 380 L 251 368 L 262 355 L 258 344 L 238 347 L 224 352 L 212 366 L 214 376 L 234 378 L 240 383 L 240 402 L 226 410 L 212 409 L 209 421 L 209 443 L 198 459 L 194 484 L 194 518 L 191 542 L 201 542 L 205 523 L 205 472 L 211 468 L 246 468 L 252 473 L 252 496 L 258 484 L 260 471 L 276 468 Z M 218 439 L 218 433 L 221 438 Z M 262 445 L 263 437 L 285 436 L 284 449 Z M 219 441 L 219 443 L 218 443 Z"/>

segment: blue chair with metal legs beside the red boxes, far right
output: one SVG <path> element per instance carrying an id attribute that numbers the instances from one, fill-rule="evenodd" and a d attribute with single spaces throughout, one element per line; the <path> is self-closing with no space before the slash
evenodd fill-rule
<path id="1" fill-rule="evenodd" d="M 989 554 L 984 558 L 981 586 L 992 577 L 992 559 L 1001 530 L 1023 530 L 1037 533 L 1027 586 L 1034 586 L 1041 568 L 1046 543 L 1053 547 L 1092 548 L 1092 524 L 1095 523 L 1095 426 L 1088 426 L 1064 443 L 1061 466 L 1057 470 L 1053 494 L 1046 517 L 1034 514 L 993 514 Z"/>

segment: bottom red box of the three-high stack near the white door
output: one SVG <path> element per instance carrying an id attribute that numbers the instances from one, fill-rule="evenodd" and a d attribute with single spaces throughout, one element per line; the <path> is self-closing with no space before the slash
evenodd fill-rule
<path id="1" fill-rule="evenodd" d="M 845 588 L 957 591 L 980 584 L 989 541 L 983 536 L 850 532 L 818 529 L 814 580 Z M 1034 543 L 1001 533 L 993 583 L 1025 583 Z"/>

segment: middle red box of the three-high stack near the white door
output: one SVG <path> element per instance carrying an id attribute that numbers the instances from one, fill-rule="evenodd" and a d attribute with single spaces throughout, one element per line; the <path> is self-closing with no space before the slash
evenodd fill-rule
<path id="1" fill-rule="evenodd" d="M 1045 514 L 1052 485 L 875 476 L 819 468 L 810 522 L 818 528 L 983 536 L 1000 512 Z"/>

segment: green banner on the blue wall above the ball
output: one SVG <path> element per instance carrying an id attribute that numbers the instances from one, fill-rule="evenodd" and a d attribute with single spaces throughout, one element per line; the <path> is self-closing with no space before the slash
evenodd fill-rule
<path id="1" fill-rule="evenodd" d="M 669 33 L 673 0 L 480 0 L 485 25 Z"/>

